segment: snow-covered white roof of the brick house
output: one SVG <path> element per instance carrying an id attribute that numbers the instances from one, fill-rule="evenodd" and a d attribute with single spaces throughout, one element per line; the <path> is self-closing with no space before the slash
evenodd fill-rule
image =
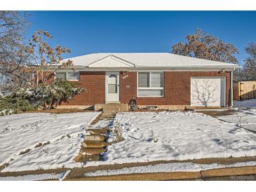
<path id="1" fill-rule="evenodd" d="M 64 61 L 72 60 L 73 65 L 77 67 L 93 67 L 93 64 L 102 62 L 108 57 L 126 63 L 127 67 L 238 67 L 237 64 L 203 60 L 172 53 L 92 53 L 68 58 Z M 119 67 L 119 64 L 116 67 Z"/>

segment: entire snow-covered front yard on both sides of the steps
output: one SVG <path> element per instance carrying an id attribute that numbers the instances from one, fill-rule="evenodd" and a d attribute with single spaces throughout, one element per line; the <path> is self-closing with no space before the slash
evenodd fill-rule
<path id="1" fill-rule="evenodd" d="M 256 117 L 256 111 L 253 113 L 251 110 L 250 115 Z M 8 163 L 2 172 L 81 167 L 73 158 L 79 153 L 81 134 L 86 134 L 98 114 L 1 116 L 0 162 Z M 107 124 L 109 120 L 103 120 L 90 128 Z M 193 111 L 119 113 L 111 125 L 123 130 L 124 140 L 107 147 L 105 161 L 83 166 L 256 156 L 256 135 L 235 124 Z M 114 139 L 114 134 L 110 135 L 109 142 Z"/>

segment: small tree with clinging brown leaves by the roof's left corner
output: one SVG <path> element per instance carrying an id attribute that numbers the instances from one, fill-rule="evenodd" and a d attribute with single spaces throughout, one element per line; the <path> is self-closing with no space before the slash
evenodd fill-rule
<path id="1" fill-rule="evenodd" d="M 36 31 L 32 39 L 29 40 L 29 46 L 34 50 L 35 71 L 37 72 L 37 78 L 39 78 L 41 84 L 45 85 L 50 76 L 57 70 L 63 69 L 68 65 L 72 65 L 72 61 L 62 62 L 62 55 L 65 53 L 71 53 L 69 48 L 62 47 L 60 45 L 52 48 L 47 39 L 51 39 L 53 36 L 46 31 Z"/>

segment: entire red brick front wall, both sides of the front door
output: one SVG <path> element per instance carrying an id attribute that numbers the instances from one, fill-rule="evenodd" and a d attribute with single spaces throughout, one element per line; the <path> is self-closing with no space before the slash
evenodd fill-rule
<path id="1" fill-rule="evenodd" d="M 120 73 L 120 102 L 128 103 L 133 97 L 139 105 L 189 105 L 190 79 L 195 76 L 226 76 L 226 101 L 230 106 L 231 73 L 217 71 L 166 71 L 164 72 L 164 97 L 137 97 L 137 72 Z M 86 88 L 62 105 L 93 105 L 105 103 L 105 72 L 81 71 L 79 86 Z"/>

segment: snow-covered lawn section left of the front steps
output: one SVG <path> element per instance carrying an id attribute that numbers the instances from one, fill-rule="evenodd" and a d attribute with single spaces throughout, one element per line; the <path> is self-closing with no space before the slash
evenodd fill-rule
<path id="1" fill-rule="evenodd" d="M 15 114 L 0 117 L 2 172 L 79 166 L 81 134 L 97 112 Z"/>

